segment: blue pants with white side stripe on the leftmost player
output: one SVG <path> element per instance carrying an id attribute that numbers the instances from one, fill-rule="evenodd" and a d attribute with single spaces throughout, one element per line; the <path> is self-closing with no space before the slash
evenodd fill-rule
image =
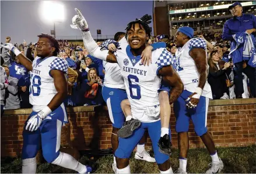
<path id="1" fill-rule="evenodd" d="M 27 118 L 36 115 L 32 112 Z M 22 159 L 34 158 L 40 147 L 43 150 L 44 159 L 51 163 L 59 155 L 61 146 L 61 127 L 66 116 L 64 104 L 51 112 L 42 122 L 41 126 L 33 132 L 26 130 L 27 121 L 23 129 Z"/>

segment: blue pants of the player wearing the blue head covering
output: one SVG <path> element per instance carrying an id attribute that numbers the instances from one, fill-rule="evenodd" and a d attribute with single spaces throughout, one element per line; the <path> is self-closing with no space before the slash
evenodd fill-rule
<path id="1" fill-rule="evenodd" d="M 209 98 L 201 96 L 197 108 L 188 109 L 185 100 L 192 93 L 184 90 L 178 100 L 173 104 L 174 115 L 176 116 L 176 132 L 188 132 L 190 119 L 192 119 L 195 133 L 202 136 L 207 132 L 207 112 Z"/>

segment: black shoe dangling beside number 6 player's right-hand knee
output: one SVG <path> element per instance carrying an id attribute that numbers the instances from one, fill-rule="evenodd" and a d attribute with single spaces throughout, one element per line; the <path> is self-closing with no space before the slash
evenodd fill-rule
<path id="1" fill-rule="evenodd" d="M 166 155 L 171 155 L 171 140 L 169 134 L 165 134 L 163 137 L 160 137 L 158 143 L 159 151 Z"/>

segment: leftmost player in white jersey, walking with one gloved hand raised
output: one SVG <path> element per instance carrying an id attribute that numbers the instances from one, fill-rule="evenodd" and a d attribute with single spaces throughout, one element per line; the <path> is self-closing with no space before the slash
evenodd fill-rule
<path id="1" fill-rule="evenodd" d="M 67 95 L 65 74 L 68 65 L 64 59 L 56 57 L 59 44 L 55 38 L 48 34 L 38 37 L 37 57 L 33 62 L 12 44 L 1 45 L 12 51 L 31 72 L 29 101 L 33 105 L 33 112 L 23 130 L 22 173 L 36 173 L 36 155 L 40 147 L 44 159 L 51 164 L 79 173 L 92 172 L 90 166 L 82 165 L 71 155 L 59 151 L 61 128 L 68 121 L 63 104 Z"/>

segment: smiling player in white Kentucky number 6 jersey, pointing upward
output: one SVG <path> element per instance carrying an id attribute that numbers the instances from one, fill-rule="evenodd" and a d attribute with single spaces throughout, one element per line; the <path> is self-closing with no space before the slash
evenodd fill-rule
<path id="1" fill-rule="evenodd" d="M 89 27 L 82 13 L 75 9 L 78 15 L 72 19 L 78 29 L 82 30 L 83 42 L 89 53 L 96 58 L 111 63 L 118 63 L 121 74 L 124 77 L 125 89 L 131 104 L 132 116 L 141 121 L 141 126 L 127 139 L 120 138 L 119 145 L 115 151 L 117 162 L 117 173 L 130 173 L 129 156 L 136 144 L 148 129 L 152 140 L 153 151 L 160 173 L 173 173 L 169 155 L 159 152 L 157 142 L 160 139 L 161 123 L 159 109 L 159 93 L 161 76 L 173 88 L 170 91 L 170 102 L 177 100 L 183 91 L 183 84 L 178 74 L 171 68 L 167 60 L 170 52 L 166 48 L 156 49 L 152 52 L 152 64 L 143 66 L 141 64 L 141 53 L 146 47 L 146 40 L 150 37 L 150 28 L 142 20 L 136 20 L 128 24 L 125 37 L 129 44 L 122 44 L 116 56 L 107 50 L 100 48 L 93 40 Z M 150 109 L 150 113 L 147 112 Z M 152 114 L 153 113 L 153 114 Z"/>

